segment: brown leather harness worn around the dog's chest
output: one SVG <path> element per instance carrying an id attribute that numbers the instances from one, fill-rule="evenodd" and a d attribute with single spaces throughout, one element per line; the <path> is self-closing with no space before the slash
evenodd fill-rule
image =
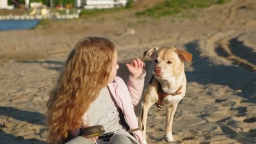
<path id="1" fill-rule="evenodd" d="M 154 79 L 154 75 L 152 76 L 152 78 L 151 78 L 151 80 L 150 80 L 150 82 L 149 82 L 149 84 L 152 84 L 152 81 L 153 81 L 153 79 Z M 181 92 L 179 92 L 180 90 L 181 90 L 181 88 L 182 88 L 182 84 L 183 84 L 183 81 L 184 81 L 184 78 L 185 77 L 183 77 L 183 80 L 182 80 L 182 82 L 181 82 L 181 86 L 178 88 L 178 90 L 177 91 L 175 91 L 174 93 L 165 93 L 164 91 L 163 91 L 163 88 L 162 88 L 162 85 L 161 85 L 161 83 L 157 80 L 157 79 L 155 79 L 156 81 L 157 81 L 157 95 L 158 95 L 158 103 L 156 103 L 156 105 L 157 105 L 157 109 L 158 110 L 162 110 L 163 109 L 163 99 L 166 97 L 166 96 L 169 96 L 169 95 L 171 95 L 171 96 L 176 96 L 176 95 L 178 95 L 178 94 L 181 94 Z"/>

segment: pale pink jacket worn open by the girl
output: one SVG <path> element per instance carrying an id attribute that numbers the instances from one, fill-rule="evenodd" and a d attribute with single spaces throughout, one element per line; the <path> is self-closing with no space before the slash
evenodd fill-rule
<path id="1" fill-rule="evenodd" d="M 133 107 L 139 104 L 141 99 L 144 87 L 144 77 L 145 72 L 144 75 L 141 75 L 140 79 L 134 79 L 129 75 L 127 85 L 125 85 L 122 78 L 115 77 L 115 81 L 107 85 L 117 106 L 122 110 L 125 121 L 129 125 L 130 130 L 139 128 Z M 86 113 L 83 115 L 83 121 L 86 121 Z M 74 135 L 78 136 L 79 130 L 75 131 Z M 133 136 L 142 144 L 141 131 L 133 132 Z"/>

